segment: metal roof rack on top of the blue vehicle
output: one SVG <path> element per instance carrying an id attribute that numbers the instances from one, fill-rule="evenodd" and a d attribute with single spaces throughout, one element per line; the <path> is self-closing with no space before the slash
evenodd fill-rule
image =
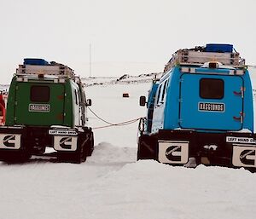
<path id="1" fill-rule="evenodd" d="M 166 64 L 164 72 L 168 72 L 173 66 L 202 66 L 208 61 L 218 61 L 224 66 L 245 66 L 245 60 L 241 59 L 237 52 L 206 52 L 204 47 L 195 47 L 195 49 L 177 50 Z"/>

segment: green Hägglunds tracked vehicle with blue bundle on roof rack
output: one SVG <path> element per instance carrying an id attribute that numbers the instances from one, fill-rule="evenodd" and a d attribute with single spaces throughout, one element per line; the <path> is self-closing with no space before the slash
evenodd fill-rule
<path id="1" fill-rule="evenodd" d="M 53 147 L 60 162 L 84 162 L 94 149 L 86 117 L 90 105 L 71 68 L 25 59 L 9 87 L 5 124 L 0 126 L 0 160 L 22 162 Z"/>

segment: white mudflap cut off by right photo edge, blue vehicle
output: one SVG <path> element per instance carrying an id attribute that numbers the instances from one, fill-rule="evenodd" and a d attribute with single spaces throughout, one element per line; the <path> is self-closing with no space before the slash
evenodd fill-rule
<path id="1" fill-rule="evenodd" d="M 232 164 L 241 167 L 256 167 L 256 147 L 253 145 L 234 145 Z"/>

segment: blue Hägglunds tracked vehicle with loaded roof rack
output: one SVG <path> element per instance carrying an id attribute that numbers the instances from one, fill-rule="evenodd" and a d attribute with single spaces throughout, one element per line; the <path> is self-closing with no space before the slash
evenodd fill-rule
<path id="1" fill-rule="evenodd" d="M 233 45 L 179 49 L 146 103 L 137 159 L 256 168 L 252 85 Z"/>

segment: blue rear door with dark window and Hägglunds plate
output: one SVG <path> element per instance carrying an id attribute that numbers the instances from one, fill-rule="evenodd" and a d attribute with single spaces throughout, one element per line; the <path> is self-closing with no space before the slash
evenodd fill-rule
<path id="1" fill-rule="evenodd" d="M 241 130 L 243 79 L 240 76 L 184 73 L 181 76 L 181 128 Z"/>

